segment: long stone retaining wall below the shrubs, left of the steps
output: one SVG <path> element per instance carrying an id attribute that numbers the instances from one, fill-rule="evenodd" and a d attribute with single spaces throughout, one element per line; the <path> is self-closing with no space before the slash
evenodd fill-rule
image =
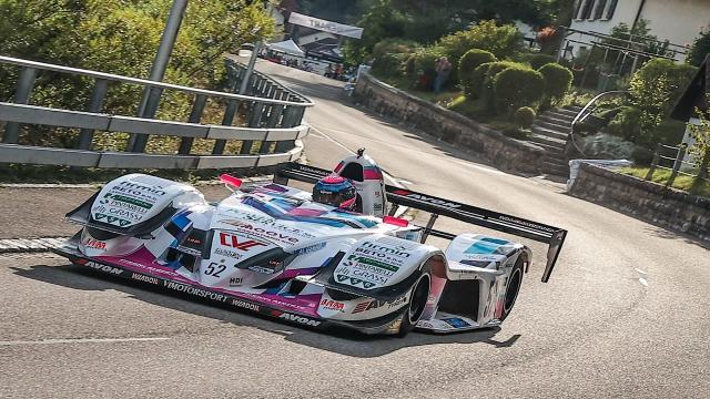
<path id="1" fill-rule="evenodd" d="M 540 173 L 542 147 L 507 137 L 456 112 L 413 96 L 362 74 L 355 88 L 356 101 L 406 126 L 420 130 L 447 143 L 477 153 L 496 166 L 523 173 Z"/>

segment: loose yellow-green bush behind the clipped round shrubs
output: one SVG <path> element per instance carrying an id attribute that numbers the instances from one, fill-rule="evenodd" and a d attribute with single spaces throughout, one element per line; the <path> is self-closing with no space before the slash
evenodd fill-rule
<path id="1" fill-rule="evenodd" d="M 495 21 L 480 21 L 471 28 L 442 38 L 439 45 L 449 61 L 458 60 L 470 49 L 490 51 L 496 58 L 509 58 L 523 49 L 523 35 L 513 24 L 498 27 Z"/>

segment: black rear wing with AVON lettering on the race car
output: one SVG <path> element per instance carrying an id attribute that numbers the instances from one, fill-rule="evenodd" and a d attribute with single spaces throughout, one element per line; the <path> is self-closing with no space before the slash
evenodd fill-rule
<path id="1" fill-rule="evenodd" d="M 285 185 L 288 183 L 290 178 L 305 183 L 315 183 L 331 173 L 333 172 L 290 162 L 278 165 L 276 173 L 274 174 L 274 183 Z M 542 283 L 547 283 L 549 280 L 559 253 L 562 249 L 562 244 L 565 244 L 565 237 L 567 236 L 566 229 L 528 221 L 521 217 L 488 211 L 473 205 L 460 204 L 449 200 L 413 192 L 407 188 L 386 185 L 385 190 L 387 192 L 387 202 L 394 205 L 420 209 L 430 214 L 429 221 L 422 236 L 422 243 L 424 243 L 429 235 L 446 239 L 454 239 L 456 237 L 455 234 L 434 228 L 434 223 L 437 217 L 447 216 L 473 225 L 548 244 L 547 264 L 542 274 Z M 389 209 L 389 213 L 394 214 L 395 211 L 396 206 L 393 206 Z"/>

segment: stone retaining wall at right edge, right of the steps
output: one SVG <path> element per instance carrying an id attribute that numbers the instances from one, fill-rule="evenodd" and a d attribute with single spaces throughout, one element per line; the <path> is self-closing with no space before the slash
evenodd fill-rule
<path id="1" fill-rule="evenodd" d="M 577 197 L 710 241 L 710 198 L 582 164 L 570 193 Z"/>

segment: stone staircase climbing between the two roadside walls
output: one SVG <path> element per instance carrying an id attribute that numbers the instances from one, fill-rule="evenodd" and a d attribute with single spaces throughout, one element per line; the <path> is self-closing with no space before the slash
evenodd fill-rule
<path id="1" fill-rule="evenodd" d="M 555 176 L 569 176 L 569 165 L 565 156 L 567 135 L 581 106 L 568 106 L 545 111 L 532 123 L 532 134 L 528 139 L 546 150 L 541 172 Z"/>

